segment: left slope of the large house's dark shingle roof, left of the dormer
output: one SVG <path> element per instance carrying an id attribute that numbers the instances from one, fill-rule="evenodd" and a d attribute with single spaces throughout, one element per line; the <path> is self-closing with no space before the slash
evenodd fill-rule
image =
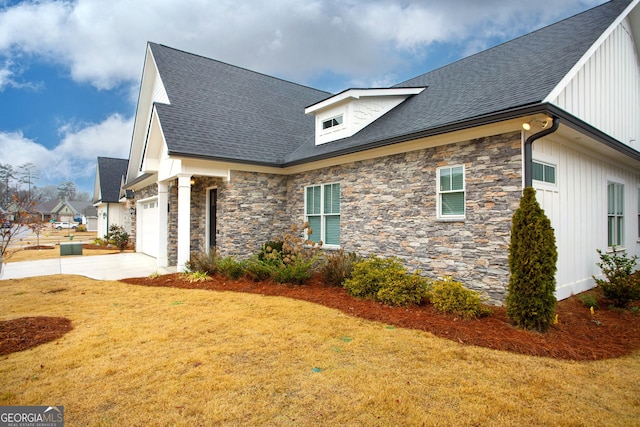
<path id="1" fill-rule="evenodd" d="M 304 108 L 329 93 L 150 43 L 170 105 L 157 104 L 170 154 L 281 163 L 314 133 Z"/>

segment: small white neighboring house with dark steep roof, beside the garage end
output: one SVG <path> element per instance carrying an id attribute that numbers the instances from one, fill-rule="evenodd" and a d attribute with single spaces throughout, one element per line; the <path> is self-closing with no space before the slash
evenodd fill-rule
<path id="1" fill-rule="evenodd" d="M 98 236 L 105 236 L 112 225 L 125 225 L 125 203 L 121 202 L 120 189 L 127 174 L 127 159 L 98 157 L 96 178 L 93 184 L 93 206 L 97 208 Z"/>

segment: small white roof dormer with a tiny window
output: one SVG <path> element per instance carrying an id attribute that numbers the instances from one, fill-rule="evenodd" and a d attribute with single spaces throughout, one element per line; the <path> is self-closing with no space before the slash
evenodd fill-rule
<path id="1" fill-rule="evenodd" d="M 305 109 L 316 116 L 316 145 L 347 138 L 425 88 L 349 89 Z"/>

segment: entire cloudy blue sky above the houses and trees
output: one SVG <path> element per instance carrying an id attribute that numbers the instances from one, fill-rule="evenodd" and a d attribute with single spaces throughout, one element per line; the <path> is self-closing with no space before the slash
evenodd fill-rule
<path id="1" fill-rule="evenodd" d="M 0 0 L 0 163 L 93 194 L 128 158 L 146 44 L 332 93 L 387 87 L 604 0 Z"/>

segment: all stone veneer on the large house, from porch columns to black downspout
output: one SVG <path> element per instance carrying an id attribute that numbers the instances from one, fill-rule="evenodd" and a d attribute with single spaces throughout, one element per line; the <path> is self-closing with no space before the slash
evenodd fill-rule
<path id="1" fill-rule="evenodd" d="M 233 171 L 230 182 L 196 178 L 192 251 L 205 250 L 206 191 L 218 188 L 217 244 L 246 258 L 304 221 L 304 187 L 339 182 L 341 247 L 397 256 L 429 277 L 450 275 L 504 301 L 511 217 L 521 196 L 519 132 L 319 169 L 293 176 Z M 466 219 L 436 217 L 436 169 L 464 164 Z M 177 188 L 170 189 L 169 262 L 177 260 Z"/>

